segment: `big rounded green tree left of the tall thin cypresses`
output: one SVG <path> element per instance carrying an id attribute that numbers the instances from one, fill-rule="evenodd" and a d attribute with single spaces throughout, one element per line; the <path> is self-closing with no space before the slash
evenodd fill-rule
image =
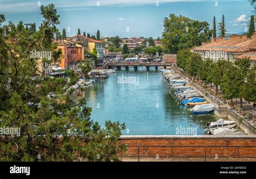
<path id="1" fill-rule="evenodd" d="M 170 51 L 200 46 L 209 41 L 213 31 L 207 22 L 200 22 L 184 16 L 171 14 L 164 20 L 162 44 Z"/>

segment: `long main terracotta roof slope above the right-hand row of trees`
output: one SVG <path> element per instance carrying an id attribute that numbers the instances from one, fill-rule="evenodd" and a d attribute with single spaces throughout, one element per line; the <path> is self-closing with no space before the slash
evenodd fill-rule
<path id="1" fill-rule="evenodd" d="M 212 42 L 196 48 L 193 51 L 225 51 L 225 52 L 248 52 L 252 46 L 255 47 L 255 43 L 252 39 L 246 40 L 225 40 L 220 42 Z"/>

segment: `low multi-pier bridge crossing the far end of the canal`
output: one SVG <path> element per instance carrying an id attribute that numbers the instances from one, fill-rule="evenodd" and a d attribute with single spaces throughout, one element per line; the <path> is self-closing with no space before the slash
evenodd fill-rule
<path id="1" fill-rule="evenodd" d="M 112 62 L 107 63 L 107 68 L 111 69 L 113 67 L 116 67 L 117 69 L 121 69 L 121 67 L 124 67 L 126 70 L 129 69 L 129 67 L 133 67 L 134 70 L 137 70 L 138 67 L 146 67 L 147 70 L 149 70 L 150 67 L 154 67 L 156 70 L 158 67 L 171 67 L 173 63 L 164 63 L 164 62 Z"/>

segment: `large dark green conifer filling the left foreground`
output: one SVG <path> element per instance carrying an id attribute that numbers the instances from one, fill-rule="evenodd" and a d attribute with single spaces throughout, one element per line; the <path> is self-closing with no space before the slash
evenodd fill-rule
<path id="1" fill-rule="evenodd" d="M 30 52 L 53 54 L 59 24 L 55 5 L 41 6 L 41 14 L 43 23 L 32 35 L 22 24 L 0 27 L 0 126 L 21 128 L 19 137 L 1 136 L 0 160 L 117 161 L 125 149 L 117 145 L 124 124 L 106 121 L 100 128 L 86 101 L 70 98 L 76 77 L 50 78 L 38 70 L 40 58 Z"/>

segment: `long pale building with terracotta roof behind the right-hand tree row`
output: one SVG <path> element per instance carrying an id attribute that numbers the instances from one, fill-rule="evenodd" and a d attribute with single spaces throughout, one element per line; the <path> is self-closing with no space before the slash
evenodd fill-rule
<path id="1" fill-rule="evenodd" d="M 256 62 L 256 35 L 252 35 L 251 38 L 247 38 L 246 34 L 212 38 L 211 42 L 205 42 L 193 48 L 192 52 L 200 54 L 203 59 L 210 58 L 214 62 L 220 59 L 234 62 L 246 56 L 250 58 L 253 66 Z"/>

